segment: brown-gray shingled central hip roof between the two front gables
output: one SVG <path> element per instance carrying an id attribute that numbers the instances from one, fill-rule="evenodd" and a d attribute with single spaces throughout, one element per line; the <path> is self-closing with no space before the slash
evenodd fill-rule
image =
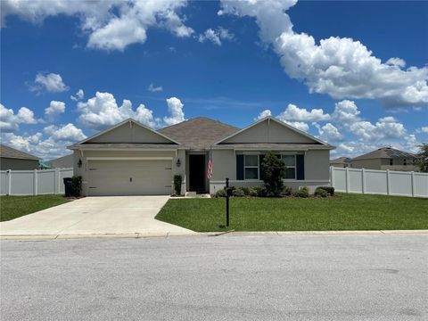
<path id="1" fill-rule="evenodd" d="M 158 131 L 191 148 L 206 148 L 238 130 L 218 120 L 197 117 Z"/>

